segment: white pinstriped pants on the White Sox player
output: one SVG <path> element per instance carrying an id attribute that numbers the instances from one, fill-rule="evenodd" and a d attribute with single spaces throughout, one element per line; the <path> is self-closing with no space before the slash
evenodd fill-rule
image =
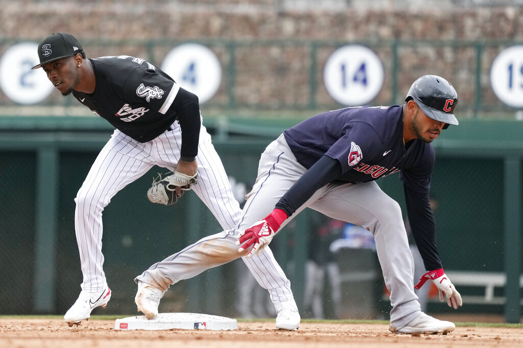
<path id="1" fill-rule="evenodd" d="M 140 143 L 115 130 L 100 151 L 75 198 L 75 230 L 82 265 L 82 289 L 101 291 L 107 285 L 103 270 L 102 211 L 111 198 L 135 181 L 152 166 L 173 170 L 180 157 L 181 132 L 178 122 L 154 140 Z M 198 184 L 192 190 L 211 210 L 224 230 L 232 229 L 241 216 L 223 164 L 211 143 L 211 136 L 201 126 L 198 145 Z M 196 223 L 196 222 L 195 222 Z M 220 253 L 220 250 L 209 250 Z M 281 302 L 292 299 L 290 281 L 270 250 L 261 258 L 243 258 L 258 283 L 268 289 L 271 298 Z M 277 294 L 275 296 L 274 294 Z"/>

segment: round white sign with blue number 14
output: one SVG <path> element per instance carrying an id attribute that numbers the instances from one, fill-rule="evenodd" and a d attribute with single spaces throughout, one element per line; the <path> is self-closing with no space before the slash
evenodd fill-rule
<path id="1" fill-rule="evenodd" d="M 362 45 L 339 47 L 323 69 L 327 93 L 338 103 L 359 106 L 370 102 L 383 86 L 383 65 L 376 53 Z"/>

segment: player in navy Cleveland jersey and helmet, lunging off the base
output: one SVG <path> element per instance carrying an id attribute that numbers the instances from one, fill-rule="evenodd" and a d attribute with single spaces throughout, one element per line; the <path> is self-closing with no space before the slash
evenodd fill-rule
<path id="1" fill-rule="evenodd" d="M 433 280 L 440 300 L 446 297 L 448 305 L 457 309 L 462 305 L 461 296 L 438 256 L 428 195 L 435 162 L 430 142 L 442 129 L 458 125 L 454 117 L 457 103 L 457 93 L 448 81 L 426 75 L 413 83 L 404 105 L 348 107 L 306 119 L 286 130 L 261 154 L 256 183 L 236 228 L 199 243 L 223 245 L 223 249 L 240 245 L 238 256 L 247 253 L 254 257 L 306 207 L 361 225 L 374 236 L 385 285 L 391 293 L 390 330 L 452 331 L 452 322 L 420 310 L 401 208 L 375 181 L 399 173 L 408 219 L 428 271 L 416 287 Z M 186 279 L 191 274 L 181 265 L 201 271 L 205 265 L 195 265 L 188 255 L 198 245 L 156 263 L 139 278 L 148 282 Z"/>

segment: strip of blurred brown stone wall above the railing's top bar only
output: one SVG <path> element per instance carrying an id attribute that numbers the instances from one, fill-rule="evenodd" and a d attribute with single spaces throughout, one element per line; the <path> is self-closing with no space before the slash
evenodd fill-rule
<path id="1" fill-rule="evenodd" d="M 515 5 L 451 0 L 1 0 L 0 33 L 28 39 L 67 31 L 100 39 L 522 40 L 523 2 L 491 3 Z"/>

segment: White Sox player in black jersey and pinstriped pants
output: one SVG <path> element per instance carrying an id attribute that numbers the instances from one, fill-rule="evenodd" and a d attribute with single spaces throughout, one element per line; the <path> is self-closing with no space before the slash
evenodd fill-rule
<path id="1" fill-rule="evenodd" d="M 178 185 L 173 191 L 181 196 L 183 189 L 194 190 L 223 229 L 238 224 L 241 210 L 211 137 L 201 124 L 195 94 L 180 88 L 161 69 L 140 58 L 87 59 L 81 44 L 70 34 L 51 34 L 38 46 L 38 54 L 40 64 L 33 69 L 42 67 L 63 95 L 72 93 L 116 128 L 75 198 L 75 231 L 83 281 L 77 301 L 64 316 L 64 321 L 72 326 L 89 318 L 95 307 L 105 307 L 111 297 L 101 251 L 102 211 L 119 190 L 154 165 L 194 179 L 190 187 Z M 208 253 L 221 254 L 214 247 L 209 246 Z M 269 290 L 278 310 L 277 326 L 298 327 L 300 316 L 290 282 L 271 251 L 244 261 L 259 284 Z M 150 286 L 140 282 L 139 290 Z M 135 301 L 142 310 L 141 298 L 138 296 Z"/>

